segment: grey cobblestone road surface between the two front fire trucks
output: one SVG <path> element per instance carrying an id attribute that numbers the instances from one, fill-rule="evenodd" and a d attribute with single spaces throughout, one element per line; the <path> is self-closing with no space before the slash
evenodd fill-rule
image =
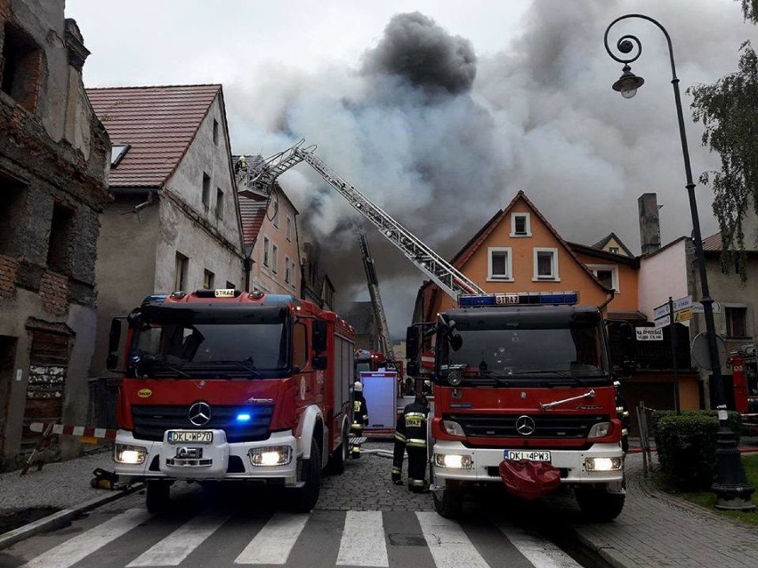
<path id="1" fill-rule="evenodd" d="M 367 450 L 392 451 L 392 443 L 369 440 L 361 446 Z M 325 476 L 317 508 L 339 511 L 433 511 L 429 493 L 418 494 L 406 485 L 392 484 L 392 460 L 370 453 L 358 460 L 348 459 L 341 476 Z M 407 480 L 407 460 L 403 481 Z"/>

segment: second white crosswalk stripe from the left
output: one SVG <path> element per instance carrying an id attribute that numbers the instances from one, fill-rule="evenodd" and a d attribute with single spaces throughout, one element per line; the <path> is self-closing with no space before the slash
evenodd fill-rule
<path id="1" fill-rule="evenodd" d="M 182 524 L 154 547 L 135 558 L 133 566 L 178 566 L 189 554 L 211 536 L 216 529 L 229 520 L 229 516 L 196 516 Z"/>

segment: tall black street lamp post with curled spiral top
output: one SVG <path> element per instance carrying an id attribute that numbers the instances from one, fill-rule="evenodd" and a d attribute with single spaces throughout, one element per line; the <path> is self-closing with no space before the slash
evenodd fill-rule
<path id="1" fill-rule="evenodd" d="M 621 92 L 625 99 L 631 99 L 645 80 L 640 76 L 632 73 L 630 63 L 637 60 L 642 53 L 642 44 L 636 36 L 621 36 L 616 44 L 617 51 L 621 54 L 617 56 L 611 51 L 608 44 L 608 34 L 617 22 L 637 18 L 648 20 L 655 24 L 664 33 L 665 41 L 668 44 L 668 53 L 671 60 L 671 84 L 673 84 L 673 99 L 676 102 L 676 116 L 679 119 L 679 136 L 681 138 L 681 152 L 684 157 L 684 171 L 687 175 L 687 194 L 689 196 L 689 212 L 692 214 L 692 240 L 695 244 L 695 252 L 698 258 L 698 271 L 700 276 L 700 289 L 702 292 L 703 312 L 706 316 L 706 337 L 708 339 L 708 353 L 711 358 L 711 367 L 713 369 L 712 380 L 714 381 L 714 394 L 716 396 L 716 408 L 719 411 L 719 435 L 718 447 L 716 449 L 716 481 L 712 486 L 716 494 L 716 508 L 730 510 L 754 510 L 755 506 L 751 502 L 751 495 L 754 492 L 752 484 L 747 483 L 745 469 L 742 467 L 742 460 L 739 457 L 737 439 L 727 427 L 727 410 L 724 397 L 724 388 L 722 380 L 722 369 L 719 361 L 718 346 L 716 344 L 716 332 L 714 324 L 714 300 L 708 291 L 708 279 L 706 276 L 706 258 L 703 253 L 703 240 L 700 235 L 700 220 L 698 217 L 698 203 L 695 200 L 695 183 L 692 181 L 692 168 L 689 165 L 689 149 L 687 148 L 687 137 L 684 133 L 684 116 L 681 112 L 681 96 L 679 94 L 679 79 L 676 76 L 676 68 L 673 62 L 673 48 L 671 37 L 665 28 L 649 16 L 642 14 L 626 14 L 610 22 L 609 27 L 605 30 L 603 42 L 605 49 L 614 60 L 624 64 L 622 76 L 613 84 L 614 91 Z M 672 315 L 673 316 L 673 315 Z M 673 317 L 672 317 L 673 324 Z"/>

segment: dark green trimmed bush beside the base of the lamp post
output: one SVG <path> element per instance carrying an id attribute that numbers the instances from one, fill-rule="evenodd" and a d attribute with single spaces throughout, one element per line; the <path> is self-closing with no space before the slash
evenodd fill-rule
<path id="1" fill-rule="evenodd" d="M 653 435 L 658 462 L 680 491 L 707 489 L 714 482 L 716 411 L 653 412 Z M 728 427 L 739 437 L 742 417 L 729 412 Z"/>

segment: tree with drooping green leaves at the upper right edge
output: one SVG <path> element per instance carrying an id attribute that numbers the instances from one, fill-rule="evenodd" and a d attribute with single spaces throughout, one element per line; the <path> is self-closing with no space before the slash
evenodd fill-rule
<path id="1" fill-rule="evenodd" d="M 746 20 L 758 23 L 758 0 L 739 0 Z M 703 146 L 721 155 L 720 172 L 704 172 L 700 182 L 714 190 L 714 214 L 722 234 L 722 271 L 731 268 L 746 284 L 743 220 L 758 215 L 758 56 L 750 42 L 739 48 L 738 71 L 714 84 L 688 89 L 692 117 L 702 121 Z M 754 243 L 751 243 L 754 245 Z"/>

